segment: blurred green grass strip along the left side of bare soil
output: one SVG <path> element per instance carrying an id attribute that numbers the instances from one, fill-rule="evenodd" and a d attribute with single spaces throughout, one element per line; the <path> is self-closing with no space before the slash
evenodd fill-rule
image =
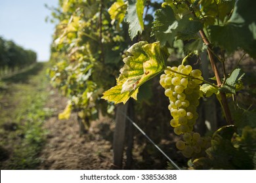
<path id="1" fill-rule="evenodd" d="M 47 135 L 42 125 L 52 113 L 45 108 L 49 97 L 46 69 L 47 63 L 37 63 L 0 81 L 0 147 L 6 150 L 0 152 L 1 169 L 36 169 L 40 163 L 37 157 Z"/>

